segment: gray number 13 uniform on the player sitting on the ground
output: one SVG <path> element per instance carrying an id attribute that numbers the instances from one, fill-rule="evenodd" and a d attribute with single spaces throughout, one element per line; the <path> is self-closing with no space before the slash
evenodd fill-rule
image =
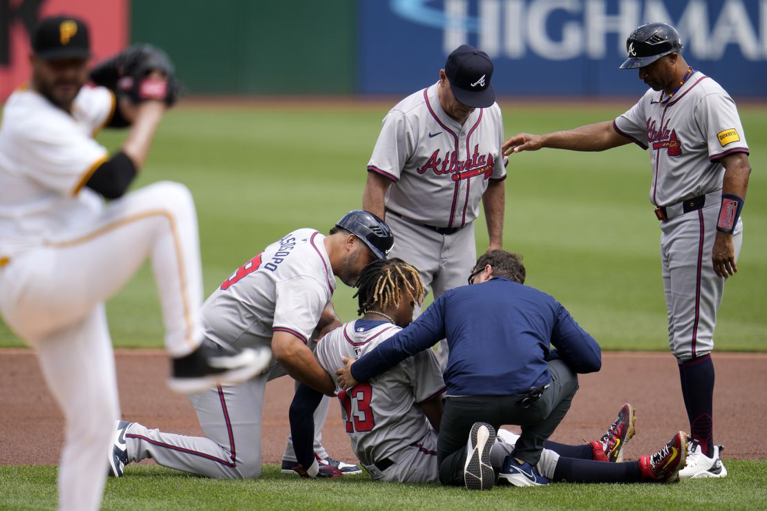
<path id="1" fill-rule="evenodd" d="M 357 319 L 324 336 L 314 355 L 337 384 L 341 357 L 358 358 L 399 332 L 385 321 Z M 351 447 L 374 479 L 408 483 L 439 482 L 436 433 L 418 403 L 445 390 L 442 372 L 430 350 L 357 385 L 339 389 L 341 418 Z"/>

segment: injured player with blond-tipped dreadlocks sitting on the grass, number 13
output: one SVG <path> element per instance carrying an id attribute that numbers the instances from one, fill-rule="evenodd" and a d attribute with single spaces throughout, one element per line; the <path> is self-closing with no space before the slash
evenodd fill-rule
<path id="1" fill-rule="evenodd" d="M 357 359 L 405 328 L 413 321 L 413 309 L 424 296 L 418 270 L 400 259 L 368 264 L 358 287 L 355 296 L 359 298 L 358 313 L 362 318 L 328 333 L 314 352 L 336 384 L 336 369 L 343 365 L 341 358 Z M 405 359 L 370 382 L 337 388 L 341 416 L 354 454 L 374 480 L 439 482 L 437 431 L 445 389 L 443 375 L 430 349 Z M 304 467 L 314 459 L 312 412 L 321 397 L 321 393 L 301 385 L 291 404 L 295 452 Z M 513 458 L 518 435 L 500 430 L 489 460 L 499 473 L 499 481 L 515 486 L 538 486 L 550 480 L 570 483 L 678 480 L 686 453 L 686 435 L 682 432 L 651 456 L 627 463 L 598 463 L 623 459 L 624 447 L 634 435 L 634 420 L 634 408 L 624 405 L 599 441 L 582 445 L 546 441 L 541 460 L 529 473 L 505 470 Z"/>

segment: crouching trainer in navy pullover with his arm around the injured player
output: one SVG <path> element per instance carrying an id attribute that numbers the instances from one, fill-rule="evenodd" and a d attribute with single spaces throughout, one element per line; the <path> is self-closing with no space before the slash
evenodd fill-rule
<path id="1" fill-rule="evenodd" d="M 532 473 L 578 390 L 576 373 L 601 368 L 594 338 L 561 303 L 524 282 L 521 257 L 489 251 L 469 276 L 474 285 L 449 290 L 406 329 L 354 363 L 344 359 L 338 370 L 341 385 L 351 387 L 447 339 L 437 447 L 443 484 L 492 487 L 495 475 L 486 466 L 502 424 L 522 428 L 514 457 Z"/>

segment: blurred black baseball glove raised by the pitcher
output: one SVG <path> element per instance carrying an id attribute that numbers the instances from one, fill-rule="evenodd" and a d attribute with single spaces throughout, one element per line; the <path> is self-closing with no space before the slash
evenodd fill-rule
<path id="1" fill-rule="evenodd" d="M 161 100 L 173 106 L 181 91 L 170 57 L 151 44 L 134 44 L 96 64 L 91 70 L 91 81 L 134 104 Z"/>

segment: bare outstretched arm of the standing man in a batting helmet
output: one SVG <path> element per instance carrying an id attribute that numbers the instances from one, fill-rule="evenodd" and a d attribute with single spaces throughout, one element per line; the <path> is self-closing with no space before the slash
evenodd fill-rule
<path id="1" fill-rule="evenodd" d="M 519 133 L 503 142 L 502 149 L 503 156 L 514 152 L 537 151 L 545 147 L 571 151 L 604 151 L 624 146 L 629 142 L 629 139 L 615 131 L 612 121 L 604 121 L 545 135 Z"/>

